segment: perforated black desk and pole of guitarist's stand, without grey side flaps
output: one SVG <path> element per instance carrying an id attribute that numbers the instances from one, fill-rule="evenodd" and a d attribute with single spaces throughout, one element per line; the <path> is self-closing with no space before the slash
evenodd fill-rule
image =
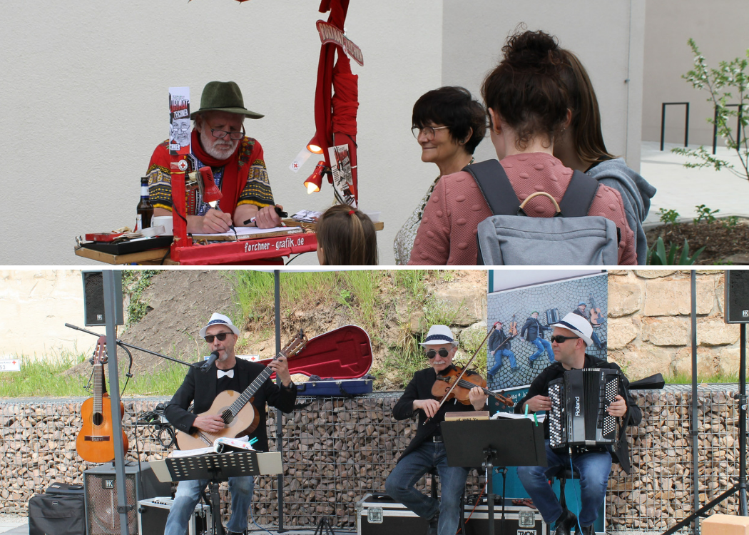
<path id="1" fill-rule="evenodd" d="M 219 483 L 229 477 L 259 476 L 258 452 L 208 453 L 207 455 L 164 459 L 172 481 L 210 480 L 210 508 L 213 535 L 224 535 L 221 522 Z"/>

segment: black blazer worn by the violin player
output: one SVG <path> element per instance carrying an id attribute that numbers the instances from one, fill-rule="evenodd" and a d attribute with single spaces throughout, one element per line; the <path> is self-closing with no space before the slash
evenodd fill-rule
<path id="1" fill-rule="evenodd" d="M 475 373 L 475 372 L 467 372 Z M 413 378 L 408 383 L 406 390 L 404 390 L 401 399 L 395 403 L 392 408 L 392 417 L 395 420 L 406 420 L 413 416 L 413 401 L 415 399 L 437 399 L 431 395 L 431 387 L 434 386 L 434 381 L 437 380 L 437 372 L 434 372 L 433 368 L 420 369 L 418 372 L 413 374 Z M 410 444 L 404 450 L 398 462 L 401 462 L 405 456 L 416 450 L 417 447 L 433 435 L 441 435 L 440 423 L 445 420 L 446 412 L 462 412 L 462 411 L 475 411 L 473 405 L 463 405 L 455 399 L 451 399 L 449 402 L 445 402 L 434 418 L 428 421 L 424 425 L 426 420 L 426 414 L 424 411 L 419 410 L 419 429 L 416 430 L 416 436 L 411 439 Z"/>

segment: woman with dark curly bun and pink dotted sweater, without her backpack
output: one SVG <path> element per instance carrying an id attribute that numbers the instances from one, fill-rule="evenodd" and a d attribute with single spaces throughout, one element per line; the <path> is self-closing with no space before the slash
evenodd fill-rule
<path id="1" fill-rule="evenodd" d="M 544 31 L 509 37 L 503 60 L 489 73 L 482 95 L 491 142 L 518 199 L 545 192 L 559 203 L 572 169 L 554 157 L 554 141 L 568 121 L 568 91 L 557 40 Z M 536 196 L 525 205 L 530 217 L 553 217 L 551 199 Z M 475 265 L 476 226 L 492 212 L 467 172 L 443 176 L 434 187 L 411 251 L 410 265 Z M 619 231 L 619 265 L 633 265 L 634 234 L 619 192 L 601 185 L 588 215 L 612 220 Z"/>

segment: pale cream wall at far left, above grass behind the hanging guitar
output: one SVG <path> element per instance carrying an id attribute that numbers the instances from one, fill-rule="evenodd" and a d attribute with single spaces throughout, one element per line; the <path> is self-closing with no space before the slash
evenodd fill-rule
<path id="1" fill-rule="evenodd" d="M 90 354 L 96 338 L 65 323 L 83 327 L 79 270 L 0 270 L 0 357 Z"/>

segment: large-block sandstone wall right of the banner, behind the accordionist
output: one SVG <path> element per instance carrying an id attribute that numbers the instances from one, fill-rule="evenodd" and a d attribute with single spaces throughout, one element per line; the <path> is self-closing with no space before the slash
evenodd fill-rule
<path id="1" fill-rule="evenodd" d="M 691 375 L 688 270 L 610 270 L 608 358 L 631 381 L 661 372 Z M 739 370 L 739 325 L 723 320 L 724 273 L 697 270 L 697 373 Z"/>

